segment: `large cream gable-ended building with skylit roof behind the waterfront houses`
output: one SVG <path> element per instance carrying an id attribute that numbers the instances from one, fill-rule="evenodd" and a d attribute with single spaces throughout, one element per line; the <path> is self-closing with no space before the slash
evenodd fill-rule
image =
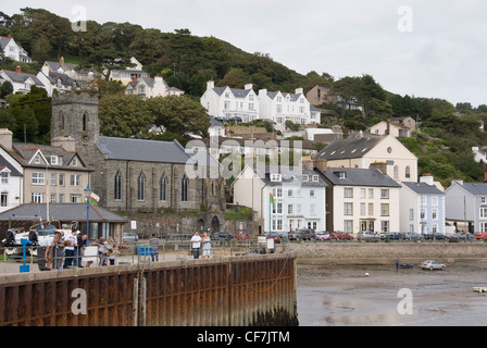
<path id="1" fill-rule="evenodd" d="M 334 140 L 314 160 L 327 167 L 378 169 L 398 183 L 417 182 L 417 157 L 391 135 L 359 133 Z"/>

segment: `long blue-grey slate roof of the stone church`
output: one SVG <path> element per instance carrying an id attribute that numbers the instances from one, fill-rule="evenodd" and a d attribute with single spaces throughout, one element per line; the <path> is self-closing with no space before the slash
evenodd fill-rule
<path id="1" fill-rule="evenodd" d="M 96 145 L 109 160 L 183 164 L 191 161 L 176 140 L 159 141 L 100 136 Z"/>

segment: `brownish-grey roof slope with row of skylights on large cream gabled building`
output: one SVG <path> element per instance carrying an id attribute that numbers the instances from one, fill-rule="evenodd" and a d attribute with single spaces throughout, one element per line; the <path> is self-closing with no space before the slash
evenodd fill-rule
<path id="1" fill-rule="evenodd" d="M 348 137 L 347 139 L 337 139 L 328 144 L 324 149 L 316 153 L 315 159 L 339 160 L 361 158 L 379 144 L 385 136 L 366 135 L 362 137 Z"/>

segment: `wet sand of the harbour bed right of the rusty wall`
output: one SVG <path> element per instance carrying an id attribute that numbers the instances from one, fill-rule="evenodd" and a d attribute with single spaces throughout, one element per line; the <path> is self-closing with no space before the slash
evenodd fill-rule
<path id="1" fill-rule="evenodd" d="M 473 290 L 487 287 L 487 262 L 447 263 L 445 271 L 424 271 L 419 265 L 396 270 L 395 264 L 299 265 L 297 279 L 301 326 L 487 323 L 487 294 Z M 407 297 L 399 294 L 401 289 L 407 289 Z"/>

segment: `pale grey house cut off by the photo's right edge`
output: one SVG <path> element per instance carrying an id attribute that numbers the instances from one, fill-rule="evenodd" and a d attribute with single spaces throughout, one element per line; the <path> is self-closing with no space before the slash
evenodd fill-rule
<path id="1" fill-rule="evenodd" d="M 445 190 L 446 220 L 457 231 L 487 231 L 487 183 L 452 181 Z"/>

